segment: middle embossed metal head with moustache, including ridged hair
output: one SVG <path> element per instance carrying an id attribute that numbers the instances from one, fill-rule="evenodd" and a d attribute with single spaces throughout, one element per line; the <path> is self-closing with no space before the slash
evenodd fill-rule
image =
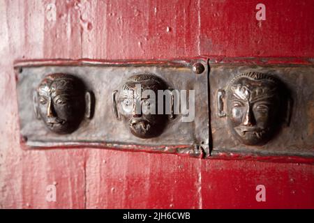
<path id="1" fill-rule="evenodd" d="M 140 89 L 137 89 L 140 87 Z M 165 114 L 157 114 L 158 90 L 167 89 L 162 79 L 152 74 L 140 74 L 130 77 L 119 93 L 119 113 L 136 137 L 157 137 L 167 122 Z M 144 95 L 152 91 L 156 98 Z M 155 111 L 155 112 L 154 112 Z"/>

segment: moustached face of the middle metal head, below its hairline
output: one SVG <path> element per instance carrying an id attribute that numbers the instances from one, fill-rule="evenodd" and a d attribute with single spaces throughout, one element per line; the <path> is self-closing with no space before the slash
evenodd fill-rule
<path id="1" fill-rule="evenodd" d="M 142 93 L 152 88 L 153 86 L 145 86 Z M 125 84 L 119 95 L 120 113 L 130 132 L 136 137 L 143 139 L 156 137 L 161 133 L 165 123 L 162 121 L 164 115 L 156 114 L 157 99 L 150 95 L 144 96 L 142 93 L 136 91 L 134 84 Z M 157 92 L 154 93 L 157 95 Z"/>

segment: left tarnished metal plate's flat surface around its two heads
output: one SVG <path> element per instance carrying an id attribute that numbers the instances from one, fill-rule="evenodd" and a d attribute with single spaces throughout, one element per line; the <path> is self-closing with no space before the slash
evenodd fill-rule
<path id="1" fill-rule="evenodd" d="M 204 70 L 195 70 L 194 63 Z M 89 146 L 190 155 L 209 154 L 208 65 L 206 59 L 190 61 L 20 61 L 15 63 L 21 139 L 31 148 Z M 196 74 L 195 72 L 201 72 Z M 33 92 L 44 77 L 66 73 L 84 82 L 94 95 L 94 112 L 84 118 L 77 130 L 57 134 L 46 128 L 33 112 Z M 158 137 L 141 139 L 130 134 L 112 109 L 112 93 L 138 73 L 154 74 L 171 89 L 195 90 L 195 118 L 181 121 L 179 114 L 167 123 Z M 90 97 L 90 96 L 89 96 Z M 89 98 L 91 100 L 91 98 Z"/>

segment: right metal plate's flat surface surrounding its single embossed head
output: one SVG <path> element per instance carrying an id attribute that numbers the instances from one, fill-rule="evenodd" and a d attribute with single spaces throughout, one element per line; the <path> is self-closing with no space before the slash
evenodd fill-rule
<path id="1" fill-rule="evenodd" d="M 211 107 L 211 137 L 212 151 L 211 155 L 218 153 L 249 153 L 253 155 L 314 155 L 314 68 L 313 66 L 303 65 L 246 65 L 244 63 L 211 63 L 209 74 L 210 85 L 210 107 Z M 262 79 L 262 75 L 257 73 L 269 74 L 285 86 L 286 96 L 290 98 L 289 106 L 281 107 L 285 109 L 285 114 L 277 118 L 282 118 L 280 128 L 271 135 L 269 141 L 262 145 L 252 145 L 254 141 L 239 141 L 235 137 L 232 128 L 228 123 L 228 118 L 237 115 L 236 109 L 227 109 L 227 94 L 230 82 L 236 83 L 231 86 L 232 91 L 243 91 L 242 95 L 247 93 L 241 89 L 239 79 L 234 77 L 253 76 L 256 79 Z M 257 78 L 258 77 L 258 78 Z M 266 76 L 265 76 L 266 78 Z M 267 77 L 268 78 L 268 77 Z M 269 78 L 270 79 L 270 78 Z M 243 79 L 242 79 L 243 81 Z M 257 83 L 254 79 L 251 81 L 256 86 L 265 86 Z M 248 84 L 248 82 L 246 82 Z M 267 85 L 267 84 L 266 84 Z M 235 87 L 234 87 L 235 86 Z M 239 88 L 237 89 L 237 86 Z M 239 90 L 240 89 L 240 90 Z M 255 91 L 256 93 L 256 91 Z M 285 95 L 283 95 L 285 96 Z M 222 99 L 220 101 L 220 99 Z M 222 103 L 219 103 L 222 102 Z M 280 101 L 279 101 L 280 102 Z M 278 105 L 278 104 L 277 104 Z M 270 109 L 277 105 L 269 105 Z M 231 105 L 230 105 L 231 106 Z M 239 106 L 237 103 L 234 106 Z M 232 111 L 234 114 L 232 114 Z M 272 110 L 270 110 L 272 111 Z M 253 114 L 253 113 L 252 113 Z M 290 114 L 290 116 L 289 116 Z M 271 113 L 269 115 L 274 115 Z M 287 115 L 287 116 L 286 116 Z M 287 122 L 286 122 L 287 121 Z M 255 120 L 253 125 L 259 121 Z M 271 128 L 274 122 L 267 123 Z M 253 126 L 251 125 L 251 126 Z M 250 129 L 252 127 L 249 127 Z M 267 130 L 266 130 L 267 131 Z M 245 134 L 244 132 L 243 134 Z M 261 135 L 257 134 L 261 139 Z M 249 145 L 251 143 L 251 145 Z"/>

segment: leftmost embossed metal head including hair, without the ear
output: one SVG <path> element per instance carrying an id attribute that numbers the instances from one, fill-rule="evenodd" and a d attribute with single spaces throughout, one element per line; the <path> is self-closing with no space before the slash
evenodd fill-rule
<path id="1" fill-rule="evenodd" d="M 47 75 L 38 86 L 37 104 L 40 118 L 52 132 L 73 132 L 84 117 L 84 84 L 73 75 Z"/>

